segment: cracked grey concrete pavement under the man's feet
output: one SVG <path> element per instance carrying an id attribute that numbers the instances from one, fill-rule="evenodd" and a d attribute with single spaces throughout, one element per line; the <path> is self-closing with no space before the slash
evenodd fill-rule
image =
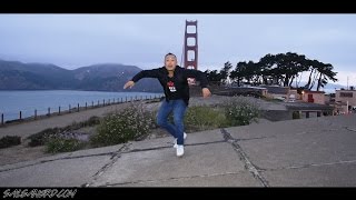
<path id="1" fill-rule="evenodd" d="M 355 187 L 356 116 L 189 133 L 0 167 L 0 187 Z"/>

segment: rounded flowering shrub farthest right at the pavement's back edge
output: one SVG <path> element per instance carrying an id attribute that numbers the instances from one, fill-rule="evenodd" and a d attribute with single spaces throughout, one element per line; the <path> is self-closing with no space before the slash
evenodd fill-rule
<path id="1" fill-rule="evenodd" d="M 224 102 L 225 116 L 229 126 L 246 126 L 259 117 L 259 108 L 249 98 L 234 97 Z"/>

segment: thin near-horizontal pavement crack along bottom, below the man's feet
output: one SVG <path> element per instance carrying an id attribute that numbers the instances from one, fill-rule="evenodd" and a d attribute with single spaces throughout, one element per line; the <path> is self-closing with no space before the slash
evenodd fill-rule
<path id="1" fill-rule="evenodd" d="M 199 174 L 199 176 L 188 176 L 188 177 L 172 177 L 167 179 L 155 179 L 155 180 L 137 180 L 137 181 L 128 181 L 128 182 L 119 182 L 119 183 L 109 183 L 99 187 L 117 187 L 125 184 L 136 184 L 136 183 L 146 183 L 146 182 L 160 182 L 160 181 L 169 181 L 169 180 L 184 180 L 184 179 L 194 179 L 194 178 L 205 178 L 205 177 L 218 177 L 218 176 L 229 176 L 229 174 L 240 174 L 244 171 L 238 172 L 225 172 L 225 173 L 212 173 L 212 174 Z"/>

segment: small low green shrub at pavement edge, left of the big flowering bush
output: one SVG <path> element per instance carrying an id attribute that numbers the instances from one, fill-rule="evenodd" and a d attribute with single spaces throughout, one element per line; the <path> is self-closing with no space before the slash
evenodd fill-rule
<path id="1" fill-rule="evenodd" d="M 46 142 L 46 152 L 48 153 L 58 153 L 58 152 L 69 152 L 82 149 L 85 142 L 81 142 L 77 139 L 65 139 L 59 137 L 50 138 Z"/>

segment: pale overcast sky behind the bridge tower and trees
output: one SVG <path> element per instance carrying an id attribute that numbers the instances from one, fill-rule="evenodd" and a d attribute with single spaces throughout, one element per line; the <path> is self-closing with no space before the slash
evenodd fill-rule
<path id="1" fill-rule="evenodd" d="M 0 14 L 0 59 L 151 69 L 174 52 L 180 63 L 186 20 L 198 20 L 200 70 L 291 51 L 356 84 L 356 14 Z"/>

